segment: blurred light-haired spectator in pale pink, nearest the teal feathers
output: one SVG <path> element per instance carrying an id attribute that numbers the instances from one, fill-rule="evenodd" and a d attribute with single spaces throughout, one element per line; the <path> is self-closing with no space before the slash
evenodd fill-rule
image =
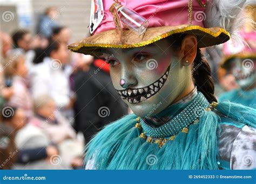
<path id="1" fill-rule="evenodd" d="M 35 117 L 30 123 L 40 128 L 58 145 L 62 158 L 72 164 L 83 153 L 83 142 L 76 139 L 76 132 L 67 119 L 59 114 L 55 101 L 49 95 L 41 95 L 34 101 Z M 70 152 L 72 150 L 72 152 Z M 77 165 L 76 165 L 77 166 Z M 78 166 L 82 166 L 82 159 Z"/>

